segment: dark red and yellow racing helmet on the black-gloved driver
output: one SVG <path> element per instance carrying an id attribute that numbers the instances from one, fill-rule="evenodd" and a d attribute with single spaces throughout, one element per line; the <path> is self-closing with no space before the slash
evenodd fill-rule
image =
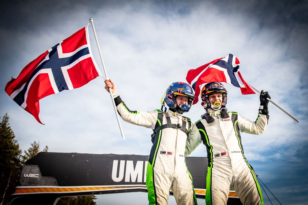
<path id="1" fill-rule="evenodd" d="M 214 105 L 211 104 L 209 101 L 209 94 L 213 93 L 221 93 L 222 102 L 217 101 L 214 103 Z M 228 92 L 224 85 L 222 85 L 220 82 L 210 82 L 206 84 L 201 90 L 201 105 L 205 109 L 211 108 L 213 110 L 219 110 L 221 108 L 225 108 L 227 105 L 227 95 Z"/>

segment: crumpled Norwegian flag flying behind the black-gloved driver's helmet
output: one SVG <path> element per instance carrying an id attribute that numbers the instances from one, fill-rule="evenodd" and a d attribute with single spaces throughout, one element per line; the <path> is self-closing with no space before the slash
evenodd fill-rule
<path id="1" fill-rule="evenodd" d="M 241 88 L 243 95 L 255 94 L 244 81 L 240 71 L 240 61 L 232 54 L 224 58 L 218 58 L 210 63 L 200 66 L 197 69 L 188 71 L 186 80 L 195 91 L 193 104 L 198 102 L 200 90 L 205 83 L 225 82 Z"/>

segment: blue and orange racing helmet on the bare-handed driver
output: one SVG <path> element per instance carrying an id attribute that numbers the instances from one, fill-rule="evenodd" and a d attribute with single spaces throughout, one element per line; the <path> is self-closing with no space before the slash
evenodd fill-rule
<path id="1" fill-rule="evenodd" d="M 183 104 L 181 107 L 177 105 L 176 97 L 178 95 L 188 97 L 187 105 Z M 190 85 L 184 82 L 174 82 L 167 88 L 164 101 L 172 110 L 183 113 L 189 111 L 194 98 L 195 94 L 193 93 L 193 89 L 190 87 Z"/>

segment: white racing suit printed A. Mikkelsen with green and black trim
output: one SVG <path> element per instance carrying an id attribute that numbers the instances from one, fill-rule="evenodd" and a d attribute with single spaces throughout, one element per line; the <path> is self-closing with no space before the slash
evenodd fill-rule
<path id="1" fill-rule="evenodd" d="M 212 112 L 213 123 L 205 119 L 195 124 L 188 137 L 186 155 L 199 144 L 207 148 L 208 174 L 206 177 L 205 202 L 226 204 L 229 190 L 233 188 L 246 204 L 263 204 L 263 198 L 252 167 L 248 164 L 241 143 L 240 132 L 262 134 L 265 131 L 268 116 L 258 114 L 255 122 L 241 117 L 237 112 L 229 112 L 229 118 L 221 118 L 220 111 Z"/>

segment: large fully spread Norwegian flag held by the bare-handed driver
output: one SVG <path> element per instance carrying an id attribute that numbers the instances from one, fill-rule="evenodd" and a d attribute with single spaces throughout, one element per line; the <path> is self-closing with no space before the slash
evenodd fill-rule
<path id="1" fill-rule="evenodd" d="M 24 67 L 6 84 L 6 93 L 41 124 L 39 100 L 79 88 L 102 75 L 89 44 L 88 27 L 61 41 Z"/>

